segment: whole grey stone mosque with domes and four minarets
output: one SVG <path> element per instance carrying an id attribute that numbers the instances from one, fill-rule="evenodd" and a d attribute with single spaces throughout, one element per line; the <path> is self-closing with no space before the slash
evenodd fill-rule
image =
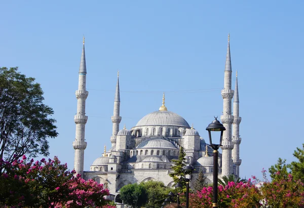
<path id="1" fill-rule="evenodd" d="M 119 190 L 127 184 L 140 183 L 148 180 L 162 181 L 168 187 L 174 185 L 169 174 L 172 172 L 172 159 L 177 159 L 179 147 L 182 146 L 187 162 L 195 168 L 194 179 L 198 170 L 203 170 L 210 183 L 213 180 L 213 150 L 200 137 L 193 126 L 180 115 L 171 112 L 163 104 L 159 110 L 148 113 L 141 118 L 135 127 L 130 130 L 124 127 L 120 130 L 120 88 L 119 76 L 117 79 L 113 116 L 111 148 L 101 157 L 92 162 L 90 170 L 84 171 L 84 152 L 87 146 L 85 141 L 85 125 L 88 116 L 85 114 L 86 98 L 86 57 L 85 39 L 79 69 L 79 87 L 76 91 L 77 114 L 74 116 L 76 124 L 75 141 L 73 142 L 74 170 L 84 179 L 94 179 L 104 184 L 110 191 L 111 199 L 119 202 Z M 119 75 L 119 74 L 118 74 Z M 241 138 L 239 137 L 239 93 L 238 79 L 235 90 L 232 90 L 232 66 L 230 56 L 230 37 L 224 70 L 224 88 L 221 91 L 223 98 L 223 115 L 220 116 L 226 131 L 223 134 L 222 153 L 218 158 L 219 177 L 234 174 L 239 176 L 239 167 L 242 162 L 239 155 Z M 232 98 L 233 106 L 232 106 Z M 233 115 L 232 115 L 233 107 Z M 192 180 L 194 182 L 195 180 Z"/>

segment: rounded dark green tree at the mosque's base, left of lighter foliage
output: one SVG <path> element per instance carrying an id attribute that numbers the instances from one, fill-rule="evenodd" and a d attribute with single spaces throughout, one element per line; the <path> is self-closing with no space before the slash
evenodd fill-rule
<path id="1" fill-rule="evenodd" d="M 120 189 L 121 199 L 132 208 L 139 208 L 147 202 L 146 190 L 141 184 L 128 184 Z"/>

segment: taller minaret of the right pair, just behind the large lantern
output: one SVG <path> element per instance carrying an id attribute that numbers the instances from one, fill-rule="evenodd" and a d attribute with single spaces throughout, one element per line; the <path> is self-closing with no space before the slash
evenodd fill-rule
<path id="1" fill-rule="evenodd" d="M 232 67 L 231 67 L 231 57 L 230 57 L 230 35 L 228 34 L 228 46 L 227 46 L 227 55 L 226 55 L 226 64 L 224 71 L 224 89 L 221 91 L 223 98 L 223 115 L 220 116 L 220 119 L 223 123 L 223 126 L 226 128 L 226 131 L 223 132 L 222 140 L 222 176 L 229 176 L 233 173 L 233 162 L 232 162 L 232 122 L 234 116 L 232 115 L 231 109 L 231 100 L 234 95 L 234 91 L 231 89 L 231 76 L 232 76 Z"/>

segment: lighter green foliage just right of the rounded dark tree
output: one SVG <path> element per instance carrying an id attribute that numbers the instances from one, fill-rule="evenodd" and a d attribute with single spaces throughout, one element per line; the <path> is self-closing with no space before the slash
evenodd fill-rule
<path id="1" fill-rule="evenodd" d="M 145 208 L 158 208 L 162 206 L 164 200 L 168 197 L 168 193 L 173 191 L 167 188 L 161 181 L 147 181 L 141 183 L 146 189 L 148 195 L 148 202 Z"/>

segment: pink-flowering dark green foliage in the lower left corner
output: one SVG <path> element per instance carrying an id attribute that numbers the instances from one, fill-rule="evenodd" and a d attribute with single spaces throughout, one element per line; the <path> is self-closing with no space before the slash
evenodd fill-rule
<path id="1" fill-rule="evenodd" d="M 67 171 L 57 157 L 48 161 L 25 162 L 16 159 L 10 163 L 1 160 L 6 172 L 0 176 L 0 206 L 14 207 L 101 207 L 103 196 L 109 192 L 102 184 L 84 180 L 74 171 Z M 115 206 L 114 206 L 115 207 Z"/>

